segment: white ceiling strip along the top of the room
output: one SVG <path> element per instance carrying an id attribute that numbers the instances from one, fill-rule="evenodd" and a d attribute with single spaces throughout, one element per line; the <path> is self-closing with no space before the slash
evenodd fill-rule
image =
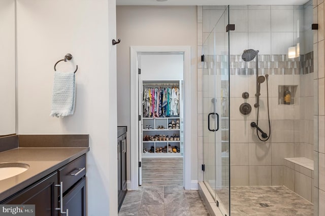
<path id="1" fill-rule="evenodd" d="M 184 6 L 184 5 L 304 5 L 308 0 L 116 0 L 116 5 L 155 5 L 155 6 Z"/>

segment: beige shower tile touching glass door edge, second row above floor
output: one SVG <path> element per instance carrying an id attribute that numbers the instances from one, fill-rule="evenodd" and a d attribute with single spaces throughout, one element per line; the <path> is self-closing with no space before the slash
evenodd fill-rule
<path id="1" fill-rule="evenodd" d="M 248 165 L 249 163 L 248 143 L 232 143 L 230 146 L 231 162 L 233 165 Z"/>

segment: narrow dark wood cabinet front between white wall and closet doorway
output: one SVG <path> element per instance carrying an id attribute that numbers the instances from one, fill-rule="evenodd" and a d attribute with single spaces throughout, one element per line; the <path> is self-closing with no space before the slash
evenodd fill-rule
<path id="1" fill-rule="evenodd" d="M 125 197 L 126 186 L 126 130 L 117 138 L 118 210 Z"/>

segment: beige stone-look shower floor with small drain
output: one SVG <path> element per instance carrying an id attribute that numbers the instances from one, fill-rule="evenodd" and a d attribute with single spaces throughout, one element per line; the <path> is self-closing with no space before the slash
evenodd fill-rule
<path id="1" fill-rule="evenodd" d="M 314 215 L 314 205 L 284 186 L 231 187 L 231 215 Z"/>

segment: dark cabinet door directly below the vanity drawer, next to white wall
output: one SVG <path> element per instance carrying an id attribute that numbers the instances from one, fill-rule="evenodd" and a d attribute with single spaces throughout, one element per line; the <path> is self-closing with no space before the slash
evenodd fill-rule
<path id="1" fill-rule="evenodd" d="M 69 209 L 69 216 L 86 215 L 86 177 L 75 185 L 70 191 L 63 196 L 63 211 Z M 66 216 L 66 214 L 61 214 Z"/>

